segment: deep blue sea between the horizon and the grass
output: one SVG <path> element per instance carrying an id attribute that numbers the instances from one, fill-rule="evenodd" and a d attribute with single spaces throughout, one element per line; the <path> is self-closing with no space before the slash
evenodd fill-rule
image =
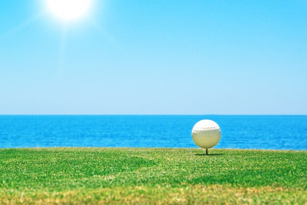
<path id="1" fill-rule="evenodd" d="M 220 125 L 216 148 L 307 150 L 307 116 L 0 116 L 0 148 L 197 147 L 201 119 Z"/>

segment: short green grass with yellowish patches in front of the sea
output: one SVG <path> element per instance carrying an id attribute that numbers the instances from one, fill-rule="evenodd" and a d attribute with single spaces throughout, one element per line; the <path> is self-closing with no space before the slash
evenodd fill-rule
<path id="1" fill-rule="evenodd" d="M 0 205 L 307 205 L 307 151 L 0 149 Z"/>

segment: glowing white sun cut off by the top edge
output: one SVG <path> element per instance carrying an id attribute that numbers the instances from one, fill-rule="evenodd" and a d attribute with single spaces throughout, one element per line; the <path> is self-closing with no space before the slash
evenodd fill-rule
<path id="1" fill-rule="evenodd" d="M 70 22 L 88 14 L 92 0 L 46 0 L 51 14 L 63 22 Z"/>

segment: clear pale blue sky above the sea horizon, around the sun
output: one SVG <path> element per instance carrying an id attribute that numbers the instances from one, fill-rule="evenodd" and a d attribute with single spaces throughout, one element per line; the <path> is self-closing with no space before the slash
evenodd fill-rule
<path id="1" fill-rule="evenodd" d="M 307 114 L 307 1 L 0 0 L 0 114 Z"/>

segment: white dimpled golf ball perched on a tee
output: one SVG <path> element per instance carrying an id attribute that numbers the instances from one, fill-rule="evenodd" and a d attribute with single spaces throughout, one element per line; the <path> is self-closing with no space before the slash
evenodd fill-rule
<path id="1" fill-rule="evenodd" d="M 197 146 L 205 149 L 216 146 L 221 139 L 220 127 L 212 120 L 203 119 L 194 125 L 192 139 Z"/>

